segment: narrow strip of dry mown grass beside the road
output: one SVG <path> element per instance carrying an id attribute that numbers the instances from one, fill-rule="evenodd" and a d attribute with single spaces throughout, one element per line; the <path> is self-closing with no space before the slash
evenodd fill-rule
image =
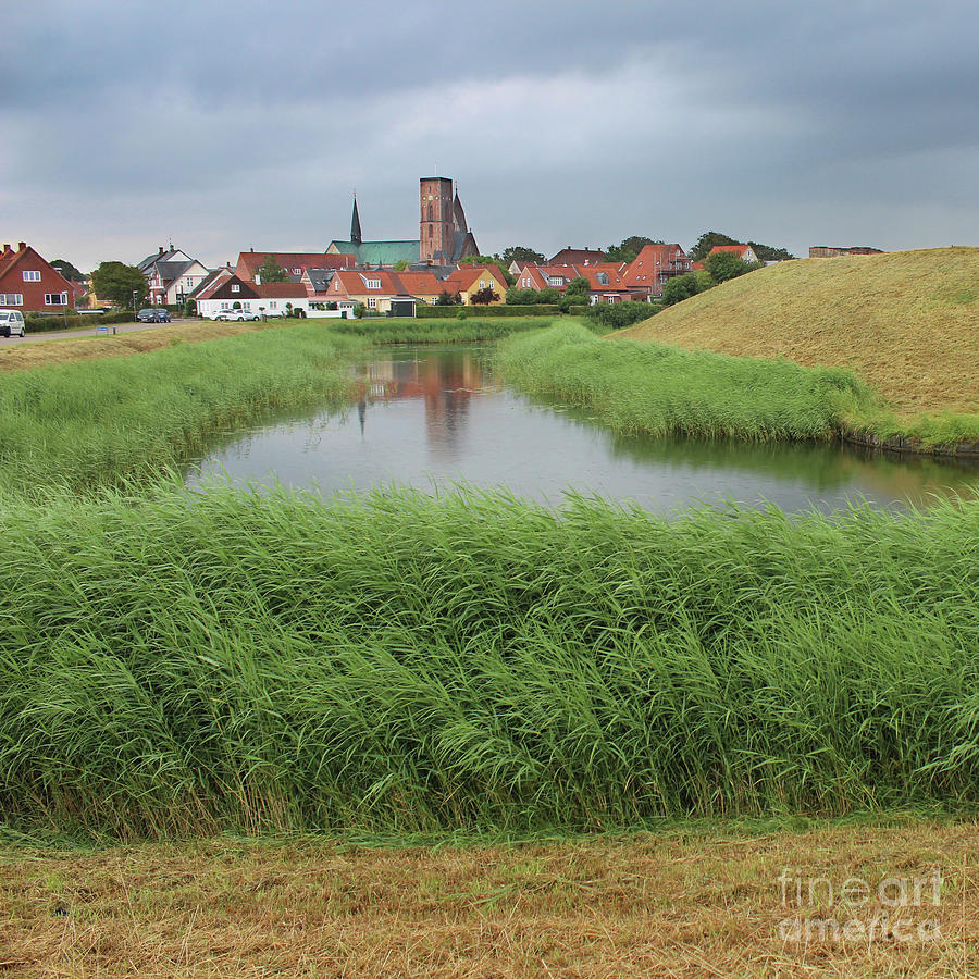
<path id="1" fill-rule="evenodd" d="M 146 354 L 169 347 L 175 340 L 197 343 L 234 336 L 252 330 L 269 330 L 276 326 L 294 325 L 296 320 L 270 320 L 262 322 L 225 323 L 221 321 L 194 320 L 189 323 L 174 323 L 156 330 L 136 330 L 115 336 L 59 337 L 37 344 L 18 344 L 0 350 L 0 371 L 18 371 L 44 367 L 49 363 L 67 363 L 71 360 L 96 360 L 100 357 L 124 357 L 128 354 Z"/>

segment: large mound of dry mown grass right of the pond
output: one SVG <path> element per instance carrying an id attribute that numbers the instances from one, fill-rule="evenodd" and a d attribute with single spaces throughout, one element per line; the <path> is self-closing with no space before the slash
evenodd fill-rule
<path id="1" fill-rule="evenodd" d="M 979 248 L 783 262 L 618 336 L 850 368 L 899 414 L 979 410 Z"/>

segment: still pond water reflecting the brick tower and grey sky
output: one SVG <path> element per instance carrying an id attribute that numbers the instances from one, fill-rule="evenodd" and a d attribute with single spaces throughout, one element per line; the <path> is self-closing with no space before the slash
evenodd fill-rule
<path id="1" fill-rule="evenodd" d="M 839 445 L 752 445 L 618 436 L 588 412 L 498 383 L 490 347 L 405 347 L 362 364 L 359 404 L 270 417 L 215 442 L 187 482 L 213 479 L 368 492 L 469 483 L 559 503 L 571 488 L 656 512 L 698 504 L 797 512 L 852 500 L 924 505 L 979 494 L 979 466 Z"/>

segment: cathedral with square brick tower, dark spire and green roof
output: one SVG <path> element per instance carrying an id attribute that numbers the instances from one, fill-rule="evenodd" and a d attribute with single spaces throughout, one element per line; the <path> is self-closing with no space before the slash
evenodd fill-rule
<path id="1" fill-rule="evenodd" d="M 360 213 L 354 198 L 350 240 L 331 241 L 327 255 L 351 255 L 358 265 L 455 265 L 460 259 L 479 255 L 475 238 L 466 223 L 466 212 L 448 177 L 422 177 L 419 189 L 419 236 L 400 241 L 364 241 Z"/>

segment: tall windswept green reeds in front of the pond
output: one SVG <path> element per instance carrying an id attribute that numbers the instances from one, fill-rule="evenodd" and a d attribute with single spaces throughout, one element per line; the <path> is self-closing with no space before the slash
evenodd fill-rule
<path id="1" fill-rule="evenodd" d="M 979 506 L 0 508 L 0 817 L 120 839 L 977 800 Z"/>

